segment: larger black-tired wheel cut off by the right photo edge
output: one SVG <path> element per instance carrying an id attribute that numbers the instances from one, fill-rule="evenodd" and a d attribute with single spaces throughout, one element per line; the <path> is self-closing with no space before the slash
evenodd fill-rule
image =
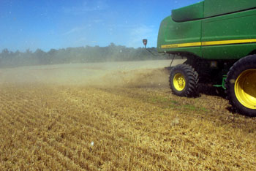
<path id="1" fill-rule="evenodd" d="M 256 55 L 238 60 L 227 73 L 227 99 L 243 115 L 256 116 Z"/>

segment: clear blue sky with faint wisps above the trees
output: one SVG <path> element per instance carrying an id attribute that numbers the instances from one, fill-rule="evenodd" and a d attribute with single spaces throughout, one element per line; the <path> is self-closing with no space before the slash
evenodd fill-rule
<path id="1" fill-rule="evenodd" d="M 0 0 L 0 50 L 157 46 L 161 20 L 171 9 L 199 0 Z"/>

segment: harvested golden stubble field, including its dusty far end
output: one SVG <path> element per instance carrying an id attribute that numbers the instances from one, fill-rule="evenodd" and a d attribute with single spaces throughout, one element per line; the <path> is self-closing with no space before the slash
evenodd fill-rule
<path id="1" fill-rule="evenodd" d="M 174 96 L 168 63 L 1 69 L 0 170 L 256 170 L 256 119 Z"/>

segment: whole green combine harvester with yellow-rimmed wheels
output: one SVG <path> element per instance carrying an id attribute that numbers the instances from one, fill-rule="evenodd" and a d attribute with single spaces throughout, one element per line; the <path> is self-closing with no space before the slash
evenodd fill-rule
<path id="1" fill-rule="evenodd" d="M 256 1 L 205 0 L 174 9 L 159 28 L 157 50 L 184 56 L 170 71 L 178 96 L 197 84 L 223 87 L 233 108 L 256 116 Z"/>

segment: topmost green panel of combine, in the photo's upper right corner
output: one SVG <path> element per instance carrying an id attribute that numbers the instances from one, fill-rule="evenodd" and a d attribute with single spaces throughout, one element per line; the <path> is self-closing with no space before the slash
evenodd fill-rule
<path id="1" fill-rule="evenodd" d="M 255 0 L 205 0 L 204 4 L 205 18 L 256 7 Z"/>

